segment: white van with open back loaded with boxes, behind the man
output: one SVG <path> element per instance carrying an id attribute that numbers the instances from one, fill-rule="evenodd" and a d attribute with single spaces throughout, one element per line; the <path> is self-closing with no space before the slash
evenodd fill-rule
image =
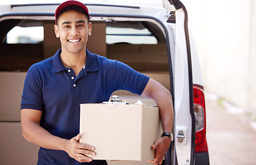
<path id="1" fill-rule="evenodd" d="M 28 68 L 61 47 L 54 35 L 54 11 L 62 2 L 0 5 L 0 164 L 36 164 L 39 147 L 21 133 L 21 94 Z M 93 25 L 90 52 L 122 61 L 171 91 L 175 137 L 164 164 L 209 164 L 202 74 L 184 5 L 178 0 L 81 2 L 89 8 Z M 115 95 L 130 103 L 140 99 L 156 104 L 127 91 Z"/>

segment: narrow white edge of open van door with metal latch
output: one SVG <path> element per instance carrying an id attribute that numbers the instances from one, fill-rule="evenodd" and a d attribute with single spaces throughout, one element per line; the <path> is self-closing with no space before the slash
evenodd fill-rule
<path id="1" fill-rule="evenodd" d="M 175 7 L 169 18 L 175 23 L 174 164 L 194 164 L 195 114 L 193 110 L 193 77 L 187 12 L 179 0 L 169 0 Z M 167 155 L 168 159 L 168 155 Z M 166 162 L 168 164 L 168 162 Z"/>

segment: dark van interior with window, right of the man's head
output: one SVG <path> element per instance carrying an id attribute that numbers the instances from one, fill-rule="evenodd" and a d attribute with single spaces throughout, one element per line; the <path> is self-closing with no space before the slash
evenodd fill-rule
<path id="1" fill-rule="evenodd" d="M 167 45 L 160 28 L 146 21 L 107 22 L 107 57 L 139 72 L 168 72 Z"/>

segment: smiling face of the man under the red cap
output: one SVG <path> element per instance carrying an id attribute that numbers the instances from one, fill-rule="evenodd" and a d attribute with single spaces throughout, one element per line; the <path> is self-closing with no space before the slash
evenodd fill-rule
<path id="1" fill-rule="evenodd" d="M 58 17 L 58 25 L 54 25 L 56 37 L 60 38 L 62 52 L 85 52 L 88 36 L 92 34 L 92 23 L 82 12 L 70 10 Z"/>

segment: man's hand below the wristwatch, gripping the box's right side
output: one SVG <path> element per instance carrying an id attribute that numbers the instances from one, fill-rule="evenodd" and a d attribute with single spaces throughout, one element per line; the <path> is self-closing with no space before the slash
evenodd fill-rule
<path id="1" fill-rule="evenodd" d="M 160 137 L 156 142 L 151 146 L 153 150 L 156 150 L 156 155 L 154 160 L 149 160 L 148 162 L 152 164 L 162 164 L 165 153 L 171 144 L 169 137 Z"/>

